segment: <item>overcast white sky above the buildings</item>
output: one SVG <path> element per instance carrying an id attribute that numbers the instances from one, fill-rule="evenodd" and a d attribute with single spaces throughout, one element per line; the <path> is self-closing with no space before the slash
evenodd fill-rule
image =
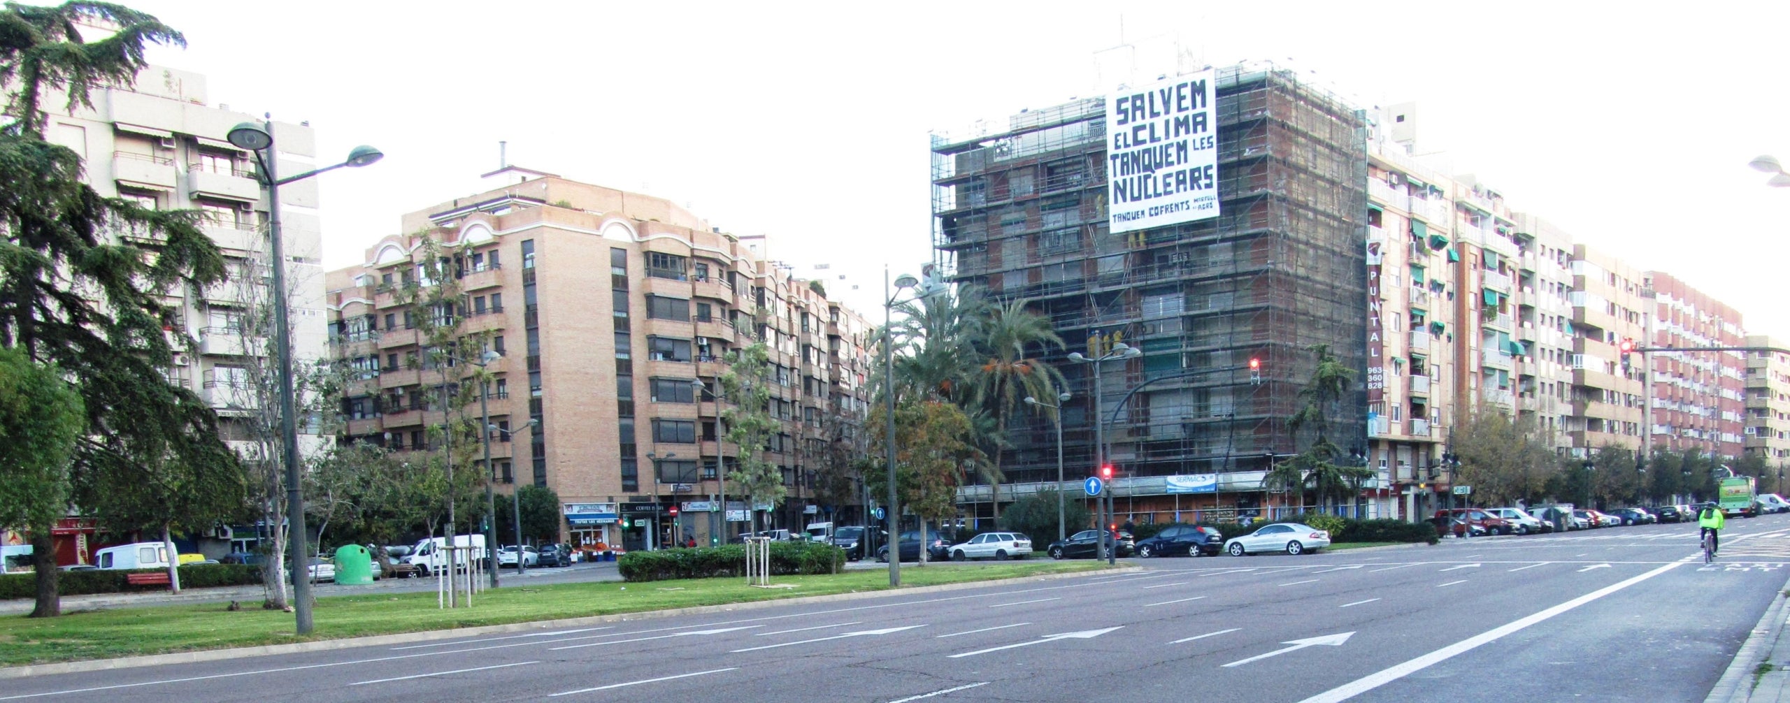
<path id="1" fill-rule="evenodd" d="M 213 104 L 310 120 L 319 159 L 385 150 L 320 179 L 329 268 L 473 193 L 508 140 L 512 165 L 872 274 L 848 299 L 868 311 L 882 263 L 929 256 L 927 131 L 1101 93 L 1095 54 L 1124 36 L 1151 77 L 1178 39 L 1364 107 L 1416 100 L 1419 150 L 1790 340 L 1790 188 L 1747 168 L 1790 159 L 1785 2 L 124 2 L 186 34 L 152 61 L 206 73 Z"/>

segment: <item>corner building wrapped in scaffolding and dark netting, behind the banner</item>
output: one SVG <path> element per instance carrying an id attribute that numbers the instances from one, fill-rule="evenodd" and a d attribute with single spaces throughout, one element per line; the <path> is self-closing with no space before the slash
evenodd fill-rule
<path id="1" fill-rule="evenodd" d="M 1117 413 L 1106 456 L 1119 513 L 1138 522 L 1300 503 L 1264 492 L 1262 476 L 1314 438 L 1287 426 L 1314 345 L 1357 370 L 1328 408 L 1326 435 L 1344 453 L 1366 451 L 1366 118 L 1273 64 L 1214 75 L 1215 218 L 1110 233 L 1106 98 L 1022 111 L 1006 131 L 933 138 L 940 261 L 954 281 L 1051 317 L 1069 347 L 1042 354 L 1074 394 L 1063 488 L 1079 492 L 1095 469 L 1095 408 Z M 1104 363 L 1092 402 L 1090 363 L 1069 354 L 1119 343 L 1142 356 Z M 1002 503 L 1058 478 L 1047 419 L 1031 417 L 1011 440 Z M 967 487 L 959 497 L 967 513 L 992 517 L 992 494 Z"/>

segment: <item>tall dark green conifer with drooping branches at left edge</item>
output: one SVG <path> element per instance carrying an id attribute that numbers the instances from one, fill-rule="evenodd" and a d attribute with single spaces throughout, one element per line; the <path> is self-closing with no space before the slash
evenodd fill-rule
<path id="1" fill-rule="evenodd" d="M 77 25 L 118 30 L 88 43 Z M 88 411 L 75 445 L 72 497 L 115 531 L 211 526 L 242 504 L 236 458 L 217 438 L 217 417 L 163 377 L 177 329 L 168 295 L 224 279 L 224 258 L 199 213 L 156 211 L 100 197 L 81 182 L 81 156 L 45 140 L 48 95 L 64 109 L 93 107 L 97 86 L 129 86 L 150 43 L 184 45 L 181 32 L 127 7 L 68 2 L 9 4 L 0 11 L 0 345 L 54 363 Z M 129 231 L 140 241 L 122 243 Z M 55 569 L 39 569 L 39 594 Z M 32 615 L 61 614 L 39 597 Z"/>

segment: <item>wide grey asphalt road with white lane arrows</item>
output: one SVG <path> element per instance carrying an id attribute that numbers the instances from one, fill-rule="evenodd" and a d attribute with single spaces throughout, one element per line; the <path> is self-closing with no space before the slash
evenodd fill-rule
<path id="1" fill-rule="evenodd" d="M 1790 576 L 1790 515 L 1731 521 L 1711 567 L 1688 524 L 1142 563 L 16 678 L 0 701 L 1699 701 Z"/>

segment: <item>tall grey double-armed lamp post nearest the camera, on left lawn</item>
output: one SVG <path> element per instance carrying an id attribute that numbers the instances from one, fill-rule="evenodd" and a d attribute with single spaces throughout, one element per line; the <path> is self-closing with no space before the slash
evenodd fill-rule
<path id="1" fill-rule="evenodd" d="M 229 129 L 227 138 L 236 148 L 254 152 L 254 161 L 260 166 L 256 181 L 261 182 L 261 191 L 267 193 L 268 254 L 274 259 L 274 356 L 279 363 L 279 444 L 281 460 L 286 462 L 286 531 L 290 537 L 286 551 L 290 551 L 292 558 L 292 574 L 303 574 L 306 572 L 310 560 L 304 556 L 304 488 L 299 485 L 299 424 L 292 401 L 292 322 L 286 320 L 286 306 L 290 301 L 286 299 L 286 250 L 279 233 L 279 186 L 342 166 L 367 166 L 383 159 L 385 154 L 378 148 L 360 145 L 347 152 L 347 161 L 281 179 L 277 174 L 279 157 L 274 154 L 274 120 L 270 116 L 267 116 L 261 123 L 238 123 Z M 297 633 L 310 635 L 311 585 L 308 578 L 292 578 L 292 612 L 297 619 Z"/>

